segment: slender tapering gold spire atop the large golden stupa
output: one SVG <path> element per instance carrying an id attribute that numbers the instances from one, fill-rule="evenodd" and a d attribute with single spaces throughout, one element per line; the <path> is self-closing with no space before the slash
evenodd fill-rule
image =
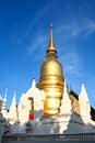
<path id="1" fill-rule="evenodd" d="M 52 24 L 50 24 L 50 40 L 49 40 L 49 46 L 48 46 L 47 53 L 49 51 L 55 51 L 57 53 L 56 47 L 55 47 L 54 37 L 52 37 Z"/>

